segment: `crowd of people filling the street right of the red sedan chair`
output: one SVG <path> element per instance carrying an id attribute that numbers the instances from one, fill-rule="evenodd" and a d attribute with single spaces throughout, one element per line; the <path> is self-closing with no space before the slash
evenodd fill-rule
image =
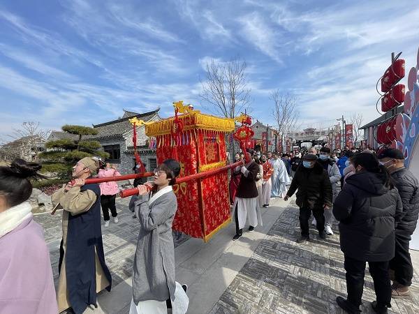
<path id="1" fill-rule="evenodd" d="M 258 204 L 268 207 L 270 197 L 288 200 L 296 193 L 301 230 L 298 244 L 310 241 L 311 214 L 320 240 L 334 234 L 334 224 L 339 223 L 348 292 L 346 299 L 337 297 L 341 308 L 360 313 L 366 262 L 374 281 L 372 308 L 376 313 L 387 313 L 392 298 L 411 296 L 409 241 L 418 221 L 419 191 L 418 180 L 404 167 L 401 151 L 312 147 L 281 158 L 277 152 L 265 155 L 249 150 L 247 154 L 253 160 L 236 167 L 231 177 L 234 184 L 230 182 L 231 195 L 235 195 L 235 187 L 240 190 L 239 200 L 233 203 L 233 240 L 242 237 L 246 218 L 249 232 L 263 223 Z M 240 158 L 237 155 L 236 161 Z M 258 175 L 258 163 L 262 176 Z M 260 180 L 262 192 L 257 194 Z M 248 199 L 254 201 L 242 201 Z"/>

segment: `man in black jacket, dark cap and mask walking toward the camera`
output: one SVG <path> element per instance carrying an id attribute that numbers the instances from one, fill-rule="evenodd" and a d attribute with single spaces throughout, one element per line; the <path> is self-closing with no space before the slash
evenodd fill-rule
<path id="1" fill-rule="evenodd" d="M 318 235 L 321 239 L 325 234 L 325 209 L 332 207 L 332 185 L 330 184 L 328 170 L 318 163 L 314 154 L 306 154 L 302 158 L 302 165 L 297 168 L 291 186 L 284 200 L 297 192 L 296 204 L 300 207 L 301 237 L 297 243 L 309 241 L 309 218 L 311 211 L 316 218 Z"/>

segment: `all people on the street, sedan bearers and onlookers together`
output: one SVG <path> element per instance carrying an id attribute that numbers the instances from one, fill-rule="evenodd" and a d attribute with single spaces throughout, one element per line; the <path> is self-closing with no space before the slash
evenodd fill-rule
<path id="1" fill-rule="evenodd" d="M 246 156 L 244 155 L 246 154 Z M 374 281 L 376 313 L 387 313 L 392 298 L 409 297 L 413 266 L 409 241 L 419 214 L 418 180 L 404 167 L 397 149 L 330 151 L 328 147 L 301 153 L 237 154 L 230 177 L 236 234 L 240 239 L 263 224 L 261 208 L 272 197 L 288 200 L 296 193 L 299 207 L 298 244 L 309 243 L 312 223 L 320 241 L 337 231 L 344 253 L 347 297 L 337 304 L 360 313 L 366 263 Z M 54 289 L 50 255 L 43 230 L 31 214 L 29 179 L 40 177 L 41 165 L 14 160 L 0 167 L 0 313 L 76 314 L 97 305 L 96 294 L 110 291 L 112 277 L 105 263 L 101 211 L 105 226 L 111 211 L 118 223 L 115 182 L 86 184 L 86 179 L 114 177 L 119 172 L 95 158 L 82 158 L 73 167 L 73 181 L 52 195 L 64 209 L 59 258 L 59 284 Z M 140 232 L 133 261 L 130 313 L 186 313 L 186 285 L 175 281 L 172 222 L 177 197 L 172 190 L 179 175 L 177 160 L 165 160 L 153 181 L 136 182 L 138 197 L 130 207 Z"/>

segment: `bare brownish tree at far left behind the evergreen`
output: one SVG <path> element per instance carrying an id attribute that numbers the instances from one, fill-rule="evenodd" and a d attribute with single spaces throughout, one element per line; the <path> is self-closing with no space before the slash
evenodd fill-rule
<path id="1" fill-rule="evenodd" d="M 20 128 L 13 129 L 13 134 L 9 135 L 14 141 L 6 145 L 18 147 L 21 158 L 24 158 L 24 155 L 33 153 L 33 160 L 38 160 L 40 149 L 45 144 L 50 133 L 50 130 L 39 128 L 39 122 L 23 122 Z"/>

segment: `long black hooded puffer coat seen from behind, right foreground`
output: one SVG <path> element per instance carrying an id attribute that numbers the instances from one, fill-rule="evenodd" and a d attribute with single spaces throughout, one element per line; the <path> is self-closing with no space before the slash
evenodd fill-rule
<path id="1" fill-rule="evenodd" d="M 395 256 L 395 224 L 402 215 L 396 188 L 384 185 L 385 174 L 358 172 L 348 177 L 337 195 L 333 214 L 340 221 L 344 255 L 366 262 Z"/>

